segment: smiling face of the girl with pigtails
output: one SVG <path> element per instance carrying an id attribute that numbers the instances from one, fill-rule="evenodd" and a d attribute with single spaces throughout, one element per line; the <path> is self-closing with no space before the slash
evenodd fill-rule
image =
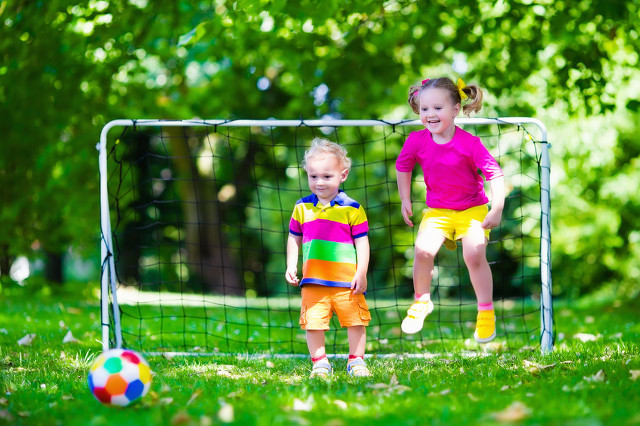
<path id="1" fill-rule="evenodd" d="M 448 142 L 453 138 L 454 120 L 459 112 L 460 104 L 454 104 L 445 89 L 433 87 L 420 94 L 420 121 L 436 142 Z"/>

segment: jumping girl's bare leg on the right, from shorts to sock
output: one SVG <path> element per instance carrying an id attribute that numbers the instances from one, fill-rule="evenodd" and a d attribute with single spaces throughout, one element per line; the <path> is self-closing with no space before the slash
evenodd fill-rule
<path id="1" fill-rule="evenodd" d="M 467 235 L 462 238 L 462 253 L 478 304 L 492 303 L 493 276 L 487 262 L 487 239 L 480 226 L 469 229 Z"/>

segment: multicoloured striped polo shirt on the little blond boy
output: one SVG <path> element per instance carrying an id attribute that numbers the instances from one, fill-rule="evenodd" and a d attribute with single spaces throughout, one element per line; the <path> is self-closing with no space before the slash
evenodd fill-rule
<path id="1" fill-rule="evenodd" d="M 317 195 L 308 195 L 296 202 L 289 232 L 302 236 L 301 286 L 351 287 L 357 265 L 354 240 L 369 232 L 359 203 L 342 190 L 326 206 Z"/>

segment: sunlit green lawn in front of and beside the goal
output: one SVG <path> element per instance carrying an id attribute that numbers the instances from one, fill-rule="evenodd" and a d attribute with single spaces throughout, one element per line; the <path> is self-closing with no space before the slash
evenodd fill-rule
<path id="1" fill-rule="evenodd" d="M 348 377 L 344 359 L 323 381 L 307 378 L 307 359 L 147 357 L 152 391 L 120 409 L 86 384 L 101 348 L 91 287 L 49 293 L 0 293 L 0 424 L 640 424 L 637 299 L 556 302 L 549 355 L 454 344 L 424 358 L 371 357 L 367 379 Z M 77 341 L 62 343 L 69 331 Z M 19 345 L 28 333 L 31 345 Z"/>

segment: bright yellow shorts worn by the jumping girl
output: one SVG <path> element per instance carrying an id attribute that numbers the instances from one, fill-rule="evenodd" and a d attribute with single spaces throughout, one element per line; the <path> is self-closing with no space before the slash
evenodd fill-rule
<path id="1" fill-rule="evenodd" d="M 449 250 L 456 249 L 456 240 L 467 235 L 471 228 L 480 226 L 489 212 L 486 205 L 471 207 L 467 210 L 426 209 L 422 215 L 418 233 L 427 228 L 437 229 L 446 238 L 444 245 Z M 489 240 L 490 229 L 484 230 Z"/>

